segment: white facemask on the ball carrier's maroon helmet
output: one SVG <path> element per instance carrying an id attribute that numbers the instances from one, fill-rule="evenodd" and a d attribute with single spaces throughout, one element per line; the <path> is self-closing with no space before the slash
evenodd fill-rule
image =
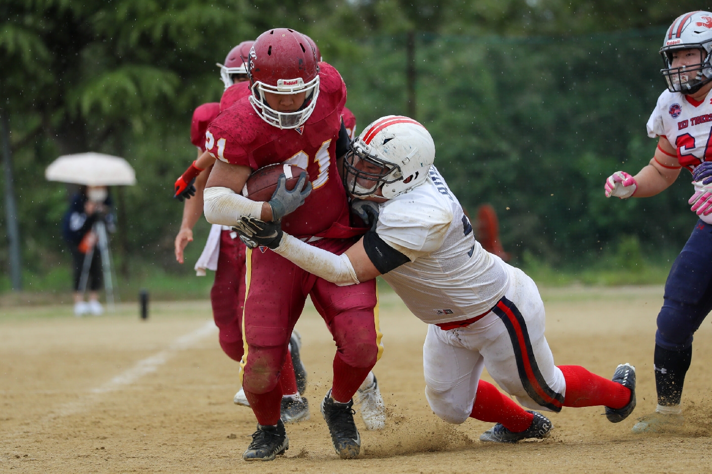
<path id="1" fill-rule="evenodd" d="M 319 96 L 319 76 L 304 83 L 302 78 L 296 79 L 280 79 L 277 85 L 268 85 L 262 82 L 253 83 L 252 95 L 250 95 L 250 103 L 255 112 L 270 125 L 284 128 L 299 128 L 305 124 L 309 116 L 316 107 L 316 100 Z M 298 93 L 306 93 L 304 103 L 295 112 L 279 112 L 274 110 L 267 104 L 265 93 L 273 93 L 277 95 L 290 95 Z"/>

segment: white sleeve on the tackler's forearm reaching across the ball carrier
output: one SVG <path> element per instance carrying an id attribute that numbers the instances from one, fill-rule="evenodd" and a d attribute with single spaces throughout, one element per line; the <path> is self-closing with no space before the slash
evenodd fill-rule
<path id="1" fill-rule="evenodd" d="M 356 285 L 356 271 L 345 253 L 334 255 L 321 248 L 310 246 L 288 233 L 282 235 L 279 246 L 273 249 L 300 268 L 339 286 Z"/>

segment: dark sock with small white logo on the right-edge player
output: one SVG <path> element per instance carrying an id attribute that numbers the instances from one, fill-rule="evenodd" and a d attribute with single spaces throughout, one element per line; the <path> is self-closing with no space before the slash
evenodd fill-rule
<path id="1" fill-rule="evenodd" d="M 692 361 L 692 346 L 681 351 L 663 349 L 655 344 L 655 386 L 658 404 L 675 406 L 682 398 L 682 385 Z"/>

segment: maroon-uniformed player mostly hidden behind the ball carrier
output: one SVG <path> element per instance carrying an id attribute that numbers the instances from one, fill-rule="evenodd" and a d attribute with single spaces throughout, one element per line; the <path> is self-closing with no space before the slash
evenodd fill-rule
<path id="1" fill-rule="evenodd" d="M 249 94 L 246 63 L 254 41 L 243 41 L 235 46 L 220 66 L 225 92 L 217 102 L 197 107 L 193 113 L 190 141 L 198 148 L 198 159 L 193 162 L 175 184 L 175 196 L 187 199 L 183 208 L 181 228 L 175 238 L 175 254 L 179 263 L 184 262 L 183 251 L 193 240 L 193 227 L 203 214 L 203 190 L 215 162 L 205 151 L 205 132 L 219 112 Z M 193 199 L 190 199 L 191 196 Z M 219 328 L 219 342 L 231 359 L 240 361 L 243 355 L 242 311 L 245 300 L 245 244 L 225 226 L 213 226 L 205 250 L 196 264 L 199 275 L 206 268 L 215 270 L 215 280 L 210 290 L 215 324 Z M 300 337 L 294 333 L 290 338 L 290 357 L 285 360 L 281 386 L 283 400 L 281 416 L 285 423 L 301 421 L 309 417 L 309 406 L 299 396 L 298 388 L 306 386 L 306 370 L 299 357 Z M 295 374 L 298 372 L 298 374 Z M 249 406 L 242 390 L 234 396 L 238 405 Z"/>

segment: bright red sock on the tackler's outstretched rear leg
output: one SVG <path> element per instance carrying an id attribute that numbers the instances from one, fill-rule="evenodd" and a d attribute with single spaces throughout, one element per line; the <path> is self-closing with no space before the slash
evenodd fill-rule
<path id="1" fill-rule="evenodd" d="M 630 401 L 630 390 L 621 384 L 592 374 L 580 365 L 558 366 L 566 380 L 564 406 L 609 406 L 623 408 Z"/>

